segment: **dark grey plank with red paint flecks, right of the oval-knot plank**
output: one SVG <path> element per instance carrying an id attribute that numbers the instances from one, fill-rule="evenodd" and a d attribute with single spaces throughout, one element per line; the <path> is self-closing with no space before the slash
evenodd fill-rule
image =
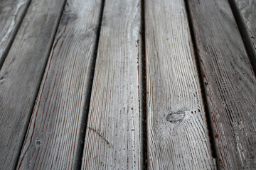
<path id="1" fill-rule="evenodd" d="M 256 80 L 228 0 L 188 1 L 219 169 L 256 168 Z"/>

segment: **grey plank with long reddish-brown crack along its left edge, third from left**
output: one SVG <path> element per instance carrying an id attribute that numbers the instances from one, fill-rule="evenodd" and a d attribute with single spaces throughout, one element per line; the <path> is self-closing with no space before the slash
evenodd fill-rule
<path id="1" fill-rule="evenodd" d="M 79 166 L 101 2 L 67 1 L 18 169 L 77 169 Z"/>

